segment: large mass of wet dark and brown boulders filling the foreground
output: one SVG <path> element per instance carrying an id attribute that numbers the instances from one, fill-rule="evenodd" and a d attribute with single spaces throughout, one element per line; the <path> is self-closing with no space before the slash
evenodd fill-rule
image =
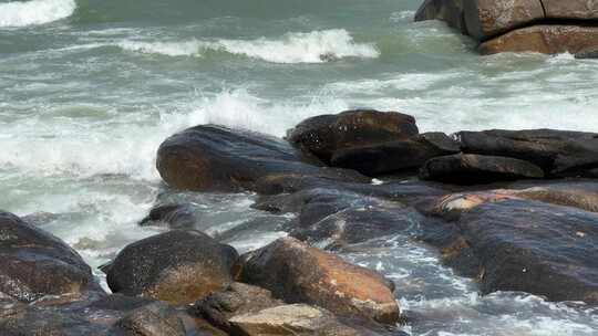
<path id="1" fill-rule="evenodd" d="M 254 208 L 296 216 L 288 237 L 239 255 L 189 204 L 157 201 L 140 224 L 171 230 L 102 267 L 107 294 L 74 250 L 2 212 L 2 335 L 401 335 L 401 287 L 336 253 L 401 232 L 483 294 L 598 304 L 598 134 L 420 134 L 405 114 L 348 111 L 286 139 L 192 127 L 156 166 L 172 192 L 256 192 Z"/>

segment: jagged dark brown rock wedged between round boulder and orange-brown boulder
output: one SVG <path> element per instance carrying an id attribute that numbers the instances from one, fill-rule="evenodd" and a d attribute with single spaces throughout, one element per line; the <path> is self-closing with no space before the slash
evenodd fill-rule
<path id="1" fill-rule="evenodd" d="M 230 318 L 280 305 L 283 305 L 283 302 L 274 298 L 270 291 L 237 282 L 196 302 L 189 313 L 231 334 Z"/>

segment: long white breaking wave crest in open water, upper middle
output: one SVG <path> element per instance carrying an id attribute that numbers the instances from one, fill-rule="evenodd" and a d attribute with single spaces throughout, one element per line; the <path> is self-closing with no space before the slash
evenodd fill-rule
<path id="1" fill-rule="evenodd" d="M 205 51 L 220 51 L 272 63 L 323 63 L 343 57 L 375 59 L 380 52 L 374 44 L 355 43 L 343 29 L 287 33 L 270 40 L 216 40 L 183 42 L 118 43 L 124 50 L 168 56 L 200 56 Z"/>

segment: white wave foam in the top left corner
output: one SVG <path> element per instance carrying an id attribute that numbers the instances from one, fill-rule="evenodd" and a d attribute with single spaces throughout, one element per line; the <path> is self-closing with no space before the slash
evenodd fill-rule
<path id="1" fill-rule="evenodd" d="M 0 3 L 0 28 L 43 24 L 72 15 L 74 0 L 31 0 Z"/>

